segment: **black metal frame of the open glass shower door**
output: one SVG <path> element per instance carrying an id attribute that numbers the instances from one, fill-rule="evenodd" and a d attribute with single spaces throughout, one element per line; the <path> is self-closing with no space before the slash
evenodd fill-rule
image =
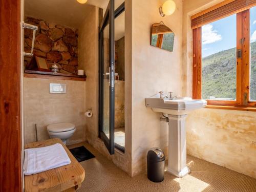
<path id="1" fill-rule="evenodd" d="M 111 7 L 112 6 L 112 7 Z M 114 20 L 124 11 L 124 2 L 114 10 L 114 1 L 110 0 L 108 8 L 99 24 L 99 138 L 102 139 L 111 155 L 115 153 L 115 147 L 124 152 L 124 147 L 115 143 L 115 86 L 114 82 L 110 86 L 110 139 L 103 132 L 103 30 L 110 24 L 110 62 L 112 62 L 113 72 L 110 74 L 110 80 L 115 80 L 115 41 L 114 41 Z M 100 18 L 101 19 L 101 18 Z M 109 22 L 110 21 L 110 22 Z"/>

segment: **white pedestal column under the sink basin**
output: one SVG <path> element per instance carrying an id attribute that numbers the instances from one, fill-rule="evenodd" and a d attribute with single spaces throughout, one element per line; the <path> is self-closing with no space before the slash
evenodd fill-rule
<path id="1" fill-rule="evenodd" d="M 184 177 L 190 172 L 186 166 L 186 116 L 187 115 L 168 115 L 169 143 L 167 172 L 179 178 Z"/>

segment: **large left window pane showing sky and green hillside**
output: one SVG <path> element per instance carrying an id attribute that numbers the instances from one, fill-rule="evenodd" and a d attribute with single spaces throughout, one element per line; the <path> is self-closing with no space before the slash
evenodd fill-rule
<path id="1" fill-rule="evenodd" d="M 202 27 L 202 98 L 236 100 L 236 14 Z"/>

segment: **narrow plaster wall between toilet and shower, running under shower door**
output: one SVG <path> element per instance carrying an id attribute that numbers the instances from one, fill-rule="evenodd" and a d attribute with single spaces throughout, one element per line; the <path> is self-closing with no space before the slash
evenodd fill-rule
<path id="1" fill-rule="evenodd" d="M 130 174 L 131 153 L 129 144 L 126 143 L 126 135 L 125 153 L 116 150 L 115 155 L 110 155 L 102 140 L 98 138 L 98 19 L 98 7 L 92 6 L 79 27 L 78 62 L 79 68 L 87 74 L 86 109 L 92 109 L 93 112 L 93 116 L 86 119 L 86 139 L 105 157 Z"/>

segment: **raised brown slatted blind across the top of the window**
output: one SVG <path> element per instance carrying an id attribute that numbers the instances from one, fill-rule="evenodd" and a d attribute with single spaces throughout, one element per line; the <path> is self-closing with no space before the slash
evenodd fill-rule
<path id="1" fill-rule="evenodd" d="M 222 7 L 207 12 L 191 20 L 191 28 L 195 29 L 203 25 L 215 22 L 221 18 L 236 14 L 256 6 L 256 0 L 235 0 Z"/>

